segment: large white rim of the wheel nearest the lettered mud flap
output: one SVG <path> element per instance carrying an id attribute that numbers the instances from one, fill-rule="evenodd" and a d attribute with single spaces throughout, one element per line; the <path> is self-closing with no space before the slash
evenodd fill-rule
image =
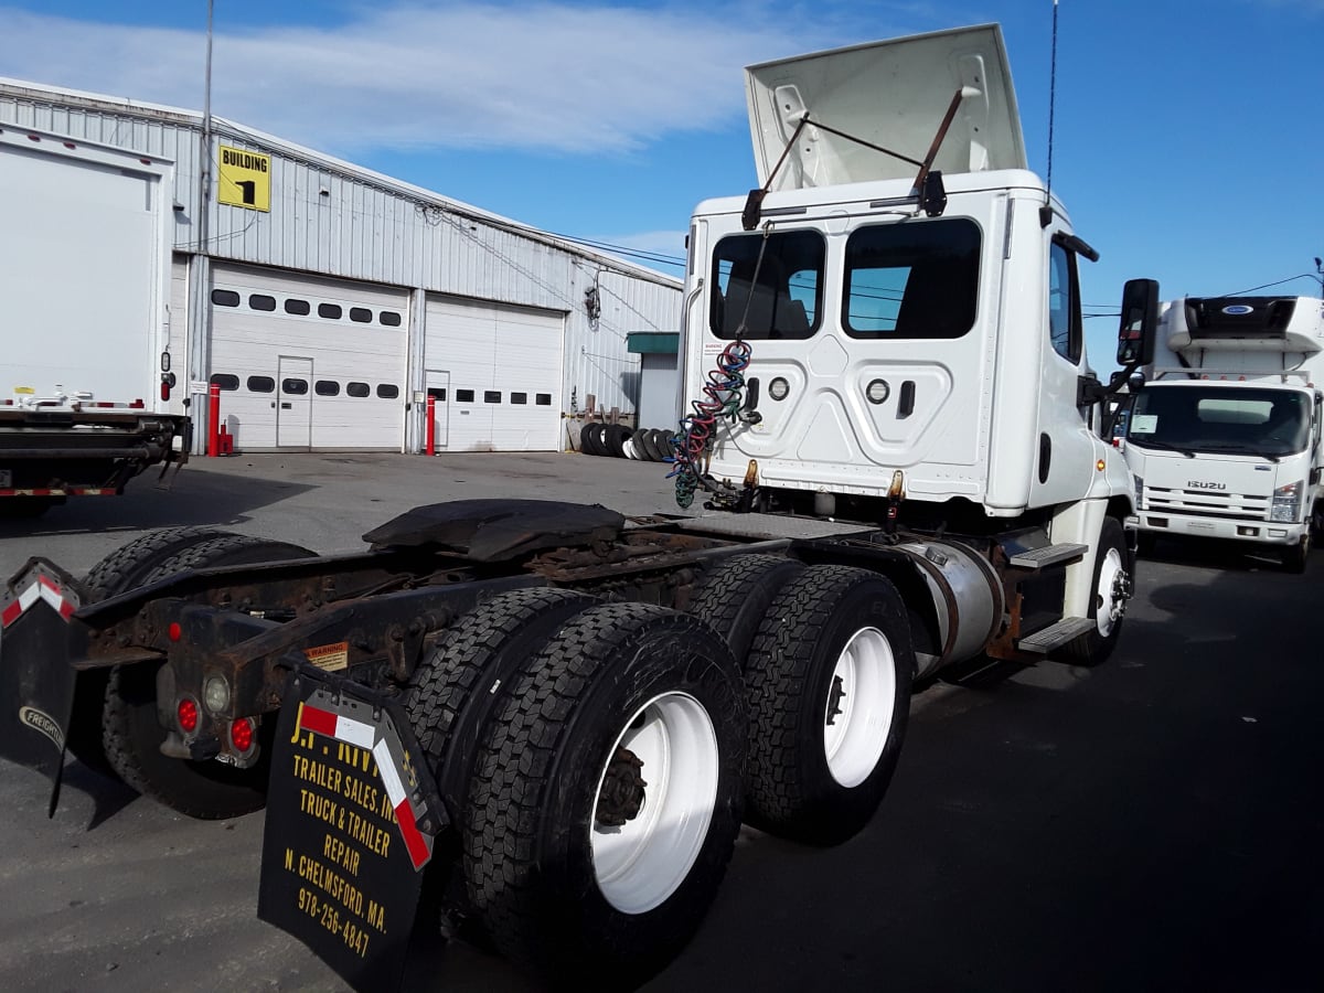
<path id="1" fill-rule="evenodd" d="M 703 704 L 685 692 L 665 692 L 625 722 L 608 763 L 617 747 L 643 763 L 643 806 L 620 828 L 597 822 L 604 763 L 589 821 L 593 875 L 616 910 L 646 914 L 685 882 L 708 835 L 718 797 L 718 735 Z"/>

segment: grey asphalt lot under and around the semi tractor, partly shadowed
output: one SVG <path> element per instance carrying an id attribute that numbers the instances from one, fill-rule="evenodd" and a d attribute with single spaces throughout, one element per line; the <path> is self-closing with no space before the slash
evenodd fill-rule
<path id="1" fill-rule="evenodd" d="M 666 511 L 662 475 L 573 454 L 216 459 L 171 493 L 140 479 L 0 524 L 0 575 L 33 553 L 85 572 L 171 524 L 354 551 L 455 496 Z M 646 989 L 1320 989 L 1321 585 L 1320 557 L 1292 576 L 1160 547 L 1108 663 L 916 694 L 896 779 L 858 837 L 806 849 L 744 830 L 698 936 Z M 261 813 L 191 821 L 74 761 L 53 820 L 46 798 L 36 773 L 0 771 L 0 989 L 344 989 L 256 919 Z M 462 941 L 421 949 L 405 988 L 531 989 Z"/>

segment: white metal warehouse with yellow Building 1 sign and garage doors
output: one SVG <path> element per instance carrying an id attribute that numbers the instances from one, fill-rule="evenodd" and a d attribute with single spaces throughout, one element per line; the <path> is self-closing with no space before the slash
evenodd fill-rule
<path id="1" fill-rule="evenodd" d="M 195 448 L 214 383 L 249 450 L 418 451 L 429 393 L 441 450 L 557 450 L 591 399 L 637 409 L 628 336 L 679 324 L 677 279 L 233 122 L 0 81 L 0 126 L 173 163 L 172 402 Z"/>

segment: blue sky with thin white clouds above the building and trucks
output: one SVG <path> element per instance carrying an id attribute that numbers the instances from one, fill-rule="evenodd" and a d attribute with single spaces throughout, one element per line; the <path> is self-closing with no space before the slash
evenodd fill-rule
<path id="1" fill-rule="evenodd" d="M 744 65 L 998 21 L 1030 166 L 1049 160 L 1051 0 L 214 0 L 221 117 L 545 230 L 683 254 L 755 185 Z M 205 0 L 0 0 L 0 75 L 193 110 Z M 1324 0 L 1061 0 L 1053 188 L 1165 298 L 1317 294 Z M 1111 318 L 1090 351 L 1111 368 Z"/>

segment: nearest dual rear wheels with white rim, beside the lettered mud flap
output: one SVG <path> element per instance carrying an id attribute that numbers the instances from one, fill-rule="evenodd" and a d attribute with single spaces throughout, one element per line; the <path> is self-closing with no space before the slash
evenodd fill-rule
<path id="1" fill-rule="evenodd" d="M 424 669 L 408 712 L 487 940 L 557 985 L 666 964 L 740 826 L 748 711 L 726 643 L 666 608 L 531 589 L 467 614 Z"/>

